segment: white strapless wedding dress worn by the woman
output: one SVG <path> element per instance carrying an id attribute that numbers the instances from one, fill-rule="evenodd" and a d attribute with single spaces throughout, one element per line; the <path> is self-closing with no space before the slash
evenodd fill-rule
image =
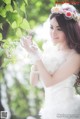
<path id="1" fill-rule="evenodd" d="M 68 57 L 67 53 L 49 50 L 43 54 L 46 69 L 55 72 Z M 64 69 L 65 70 L 65 69 Z M 39 115 L 41 119 L 80 119 L 80 96 L 76 94 L 74 84 L 77 75 L 72 74 L 56 85 L 45 87 L 45 101 Z"/>

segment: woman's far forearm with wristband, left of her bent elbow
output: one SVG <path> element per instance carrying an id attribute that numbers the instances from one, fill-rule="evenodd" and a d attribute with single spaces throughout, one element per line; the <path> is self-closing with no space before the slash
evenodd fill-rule
<path id="1" fill-rule="evenodd" d="M 31 72 L 30 72 L 30 83 L 33 86 L 36 86 L 38 84 L 38 81 L 39 81 L 39 72 L 36 65 L 33 65 L 31 67 Z"/>

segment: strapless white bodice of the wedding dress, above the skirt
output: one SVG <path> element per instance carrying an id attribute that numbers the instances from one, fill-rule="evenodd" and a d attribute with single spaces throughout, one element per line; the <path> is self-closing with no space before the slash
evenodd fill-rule
<path id="1" fill-rule="evenodd" d="M 69 57 L 67 53 L 51 50 L 49 53 L 43 53 L 42 60 L 48 72 L 54 73 L 66 61 L 67 57 Z M 45 90 L 45 103 L 50 103 L 52 100 L 55 103 L 61 103 L 63 100 L 71 99 L 75 94 L 74 84 L 76 79 L 77 75 L 72 74 L 67 79 L 50 87 L 46 87 L 42 81 Z"/>

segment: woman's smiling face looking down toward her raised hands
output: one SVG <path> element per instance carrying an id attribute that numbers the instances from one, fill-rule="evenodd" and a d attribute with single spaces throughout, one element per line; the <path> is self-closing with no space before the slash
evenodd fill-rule
<path id="1" fill-rule="evenodd" d="M 54 44 L 66 43 L 66 36 L 55 18 L 50 20 L 50 35 Z"/>

